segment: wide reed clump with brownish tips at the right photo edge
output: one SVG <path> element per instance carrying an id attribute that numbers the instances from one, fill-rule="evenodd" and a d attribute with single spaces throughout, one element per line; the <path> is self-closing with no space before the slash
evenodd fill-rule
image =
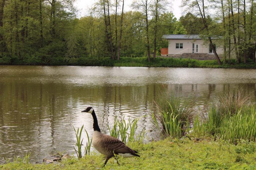
<path id="1" fill-rule="evenodd" d="M 214 140 L 221 139 L 237 144 L 240 140 L 255 141 L 256 106 L 249 96 L 238 91 L 224 95 L 217 102 L 209 104 L 206 114 L 195 119 L 193 133 L 208 135 Z"/>

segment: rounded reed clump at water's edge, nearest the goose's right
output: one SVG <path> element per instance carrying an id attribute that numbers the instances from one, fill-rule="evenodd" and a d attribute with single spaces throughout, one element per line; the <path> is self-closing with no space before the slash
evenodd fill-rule
<path id="1" fill-rule="evenodd" d="M 195 115 L 195 102 L 191 98 L 176 96 L 167 89 L 153 102 L 153 123 L 164 136 L 181 137 Z"/>

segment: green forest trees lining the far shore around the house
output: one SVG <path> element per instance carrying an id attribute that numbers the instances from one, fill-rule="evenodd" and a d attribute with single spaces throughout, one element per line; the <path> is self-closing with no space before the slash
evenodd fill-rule
<path id="1" fill-rule="evenodd" d="M 217 37 L 223 62 L 255 62 L 254 0 L 183 0 L 186 14 L 179 19 L 168 0 L 133 1 L 131 11 L 125 0 L 98 0 L 81 18 L 74 2 L 0 0 L 0 63 L 62 65 L 78 58 L 142 56 L 150 61 L 168 47 L 163 34 L 200 34 L 212 46 Z"/>

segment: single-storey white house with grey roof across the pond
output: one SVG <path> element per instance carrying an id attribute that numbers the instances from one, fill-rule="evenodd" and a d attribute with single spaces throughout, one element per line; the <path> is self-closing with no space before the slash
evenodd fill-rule
<path id="1" fill-rule="evenodd" d="M 168 56 L 185 56 L 185 58 L 201 57 L 201 59 L 214 59 L 214 53 L 209 43 L 206 43 L 199 35 L 163 35 L 162 39 L 168 41 Z M 214 42 L 214 40 L 213 40 Z M 223 48 L 215 45 L 215 49 L 220 57 Z M 187 56 L 187 57 L 186 57 Z"/>

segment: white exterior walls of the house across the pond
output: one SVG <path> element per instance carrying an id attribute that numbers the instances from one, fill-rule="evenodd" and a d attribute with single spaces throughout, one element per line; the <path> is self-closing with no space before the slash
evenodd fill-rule
<path id="1" fill-rule="evenodd" d="M 183 48 L 176 49 L 176 43 L 183 43 Z M 195 47 L 198 44 L 198 53 L 209 53 L 209 43 L 204 45 L 204 40 L 168 40 L 168 54 L 192 53 L 193 43 L 195 43 Z M 217 54 L 223 54 L 223 48 L 218 45 Z"/>

